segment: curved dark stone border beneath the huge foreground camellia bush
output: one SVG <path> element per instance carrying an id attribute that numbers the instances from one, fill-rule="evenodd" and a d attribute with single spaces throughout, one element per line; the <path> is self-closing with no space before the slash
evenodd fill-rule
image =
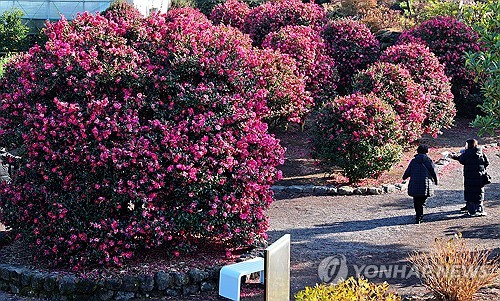
<path id="1" fill-rule="evenodd" d="M 92 280 L 0 264 L 0 290 L 57 301 L 128 301 L 134 298 L 178 297 L 216 290 L 220 269 L 208 267 L 205 270 L 192 269 L 187 273 L 160 271 L 153 275 Z"/>

